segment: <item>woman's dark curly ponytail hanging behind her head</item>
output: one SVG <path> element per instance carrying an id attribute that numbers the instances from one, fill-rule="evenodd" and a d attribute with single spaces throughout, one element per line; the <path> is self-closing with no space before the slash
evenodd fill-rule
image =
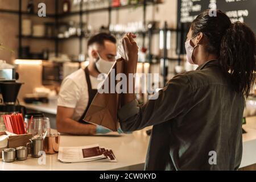
<path id="1" fill-rule="evenodd" d="M 234 89 L 249 96 L 255 83 L 256 40 L 245 23 L 232 23 L 221 39 L 220 64 Z"/>

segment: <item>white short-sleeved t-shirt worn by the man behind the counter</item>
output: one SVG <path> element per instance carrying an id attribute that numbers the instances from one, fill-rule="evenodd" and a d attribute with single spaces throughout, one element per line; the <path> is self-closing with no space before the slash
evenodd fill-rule
<path id="1" fill-rule="evenodd" d="M 92 89 L 97 89 L 101 81 L 97 80 L 96 77 L 90 76 L 90 82 Z M 88 101 L 89 94 L 85 72 L 84 69 L 79 69 L 64 78 L 61 84 L 57 105 L 75 109 L 72 119 L 78 121 L 84 113 Z"/>

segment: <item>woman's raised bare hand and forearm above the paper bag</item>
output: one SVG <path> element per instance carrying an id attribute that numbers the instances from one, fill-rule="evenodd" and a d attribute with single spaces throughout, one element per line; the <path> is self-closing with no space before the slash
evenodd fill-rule
<path id="1" fill-rule="evenodd" d="M 135 38 L 136 35 L 131 33 L 123 36 L 123 47 L 125 49 L 126 69 L 128 73 L 135 73 L 137 68 L 139 48 L 134 40 Z"/>

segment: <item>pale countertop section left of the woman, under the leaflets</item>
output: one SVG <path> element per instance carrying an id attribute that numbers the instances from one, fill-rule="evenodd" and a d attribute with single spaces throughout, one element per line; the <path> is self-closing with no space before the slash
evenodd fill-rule
<path id="1" fill-rule="evenodd" d="M 62 163 L 57 160 L 57 154 L 46 155 L 44 158 L 31 158 L 13 163 L 0 162 L 0 170 L 143 170 L 147 146 L 150 137 L 146 129 L 135 131 L 132 134 L 110 133 L 108 135 L 71 136 L 61 135 L 61 147 L 78 147 L 99 144 L 101 147 L 111 148 L 117 158 L 117 163 L 90 162 L 90 163 Z"/>

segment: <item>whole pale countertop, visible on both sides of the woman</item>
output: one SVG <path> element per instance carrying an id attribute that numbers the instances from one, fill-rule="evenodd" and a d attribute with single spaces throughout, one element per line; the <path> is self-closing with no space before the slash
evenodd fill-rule
<path id="1" fill-rule="evenodd" d="M 247 133 L 243 134 L 243 155 L 240 168 L 256 163 L 256 117 L 247 118 L 246 122 L 247 124 L 243 126 Z M 60 146 L 63 147 L 98 143 L 102 147 L 111 148 L 118 160 L 117 163 L 61 163 L 55 154 L 46 155 L 46 164 L 42 165 L 39 165 L 38 158 L 31 157 L 13 163 L 0 162 L 0 170 L 142 170 L 150 139 L 145 130 L 122 135 L 116 133 L 105 136 L 61 135 Z"/>

